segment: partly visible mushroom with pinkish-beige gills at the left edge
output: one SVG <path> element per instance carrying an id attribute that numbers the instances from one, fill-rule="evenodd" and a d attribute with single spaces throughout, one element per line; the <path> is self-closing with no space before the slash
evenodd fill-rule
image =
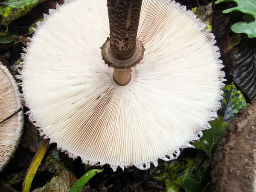
<path id="1" fill-rule="evenodd" d="M 24 123 L 22 109 L 19 87 L 0 63 L 0 172 L 20 142 Z"/>

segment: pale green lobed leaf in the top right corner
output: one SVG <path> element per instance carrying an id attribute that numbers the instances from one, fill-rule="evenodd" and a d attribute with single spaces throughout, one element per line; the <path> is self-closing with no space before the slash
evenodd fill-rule
<path id="1" fill-rule="evenodd" d="M 217 0 L 215 3 L 221 3 L 228 0 Z M 255 0 L 232 0 L 237 3 L 238 6 L 226 9 L 223 12 L 229 13 L 232 11 L 240 11 L 243 13 L 247 13 L 253 15 L 254 21 L 250 23 L 238 22 L 235 23 L 231 29 L 235 33 L 246 33 L 249 38 L 256 37 L 256 2 Z"/>

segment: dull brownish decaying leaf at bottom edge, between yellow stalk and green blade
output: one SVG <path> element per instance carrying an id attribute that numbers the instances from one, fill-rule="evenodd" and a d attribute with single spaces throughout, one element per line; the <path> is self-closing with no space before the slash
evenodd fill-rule
<path id="1" fill-rule="evenodd" d="M 53 177 L 45 186 L 41 187 L 39 192 L 67 192 L 76 181 L 73 172 L 63 172 L 61 175 Z"/>

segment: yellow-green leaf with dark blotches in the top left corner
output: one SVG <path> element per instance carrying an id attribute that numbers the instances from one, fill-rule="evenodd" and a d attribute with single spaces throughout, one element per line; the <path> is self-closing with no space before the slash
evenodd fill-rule
<path id="1" fill-rule="evenodd" d="M 45 0 L 6 0 L 0 4 L 0 15 L 2 15 L 2 24 L 8 25 L 13 20 L 26 15 L 39 3 Z"/>

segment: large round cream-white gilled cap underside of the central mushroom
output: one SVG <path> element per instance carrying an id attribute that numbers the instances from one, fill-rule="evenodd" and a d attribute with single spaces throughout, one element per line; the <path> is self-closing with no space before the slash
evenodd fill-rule
<path id="1" fill-rule="evenodd" d="M 218 47 L 186 7 L 143 1 L 138 39 L 144 58 L 131 82 L 104 64 L 107 1 L 69 0 L 45 15 L 20 71 L 29 118 L 41 135 L 84 163 L 148 169 L 191 147 L 220 107 Z"/>

